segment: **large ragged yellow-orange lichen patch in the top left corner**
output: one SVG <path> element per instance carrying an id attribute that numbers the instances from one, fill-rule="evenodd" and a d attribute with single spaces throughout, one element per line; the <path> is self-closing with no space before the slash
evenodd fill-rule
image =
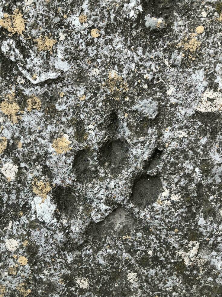
<path id="1" fill-rule="evenodd" d="M 19 9 L 15 9 L 13 15 L 4 13 L 4 18 L 0 19 L 0 26 L 11 32 L 12 34 L 18 33 L 23 35 L 25 30 L 25 20 Z"/>

